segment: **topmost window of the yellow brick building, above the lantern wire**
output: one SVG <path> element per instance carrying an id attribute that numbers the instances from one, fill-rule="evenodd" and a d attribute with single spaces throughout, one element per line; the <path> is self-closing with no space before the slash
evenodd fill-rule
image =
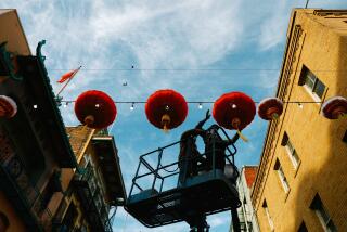
<path id="1" fill-rule="evenodd" d="M 299 85 L 305 86 L 306 89 L 313 94 L 318 100 L 322 100 L 325 85 L 305 65 L 303 66 Z"/>

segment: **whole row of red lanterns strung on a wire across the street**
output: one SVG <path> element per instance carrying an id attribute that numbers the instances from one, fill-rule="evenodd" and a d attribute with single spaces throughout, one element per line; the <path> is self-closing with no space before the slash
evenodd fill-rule
<path id="1" fill-rule="evenodd" d="M 98 90 L 89 90 L 81 93 L 76 101 L 62 101 L 66 105 L 75 102 L 77 119 L 94 129 L 108 127 L 117 116 L 116 103 L 106 93 Z M 282 102 L 278 98 L 264 99 L 255 102 L 243 92 L 229 92 L 222 94 L 215 102 L 188 102 L 179 92 L 165 89 L 157 90 L 145 102 L 117 102 L 131 103 L 133 109 L 136 103 L 145 104 L 147 120 L 155 127 L 165 131 L 179 127 L 187 118 L 188 103 L 197 103 L 202 108 L 203 103 L 213 103 L 213 116 L 217 124 L 226 129 L 241 130 L 247 127 L 256 113 L 265 120 L 278 119 L 283 113 L 285 103 L 317 103 L 317 102 Z M 258 107 L 256 107 L 256 103 Z M 318 102 L 322 103 L 322 102 Z M 36 106 L 36 107 L 35 107 Z M 37 108 L 35 105 L 34 108 Z M 0 117 L 11 118 L 17 112 L 16 103 L 7 95 L 0 95 Z M 333 96 L 322 104 L 321 114 L 327 119 L 337 119 L 347 115 L 347 99 Z M 246 140 L 246 139 L 245 139 Z"/>

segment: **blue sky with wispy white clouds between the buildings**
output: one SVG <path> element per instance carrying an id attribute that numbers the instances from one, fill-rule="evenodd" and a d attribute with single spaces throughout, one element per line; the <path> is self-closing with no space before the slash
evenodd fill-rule
<path id="1" fill-rule="evenodd" d="M 117 101 L 145 101 L 158 89 L 171 88 L 188 101 L 215 101 L 230 91 L 243 91 L 255 101 L 273 96 L 293 8 L 306 0 L 143 0 L 143 1 L 15 1 L 0 8 L 17 9 L 31 52 L 46 39 L 43 54 L 54 91 L 69 69 L 82 69 L 63 93 L 74 100 L 98 89 Z M 311 8 L 347 7 L 346 0 L 310 0 Z M 131 69 L 131 66 L 134 69 Z M 123 82 L 128 86 L 124 87 Z M 189 105 L 187 120 L 169 134 L 146 121 L 144 105 L 117 104 L 111 131 L 119 150 L 129 191 L 138 157 L 177 141 L 195 126 L 211 104 Z M 61 107 L 67 126 L 77 125 L 72 105 Z M 211 119 L 209 124 L 214 123 Z M 259 162 L 267 123 L 255 118 L 237 142 L 236 165 Z M 230 133 L 231 134 L 231 133 Z M 229 230 L 230 212 L 208 218 L 213 232 Z M 115 231 L 188 231 L 185 223 L 147 229 L 119 208 Z"/>

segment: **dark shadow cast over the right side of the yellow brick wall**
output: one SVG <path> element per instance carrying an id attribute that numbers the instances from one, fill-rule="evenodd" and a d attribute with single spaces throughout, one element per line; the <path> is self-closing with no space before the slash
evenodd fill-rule
<path id="1" fill-rule="evenodd" d="M 340 37 L 338 64 L 336 66 L 336 86 L 334 92 L 329 90 L 327 95 L 335 96 L 342 95 L 347 98 L 347 37 Z M 322 116 L 322 123 L 326 123 L 326 118 Z M 323 121 L 324 120 L 324 121 Z M 347 130 L 347 119 L 340 118 L 337 120 L 330 120 L 329 128 L 311 131 L 310 136 L 319 134 L 318 138 L 329 138 L 327 144 L 321 146 L 321 141 L 317 140 L 312 143 L 312 153 L 308 160 L 312 160 L 314 168 L 312 171 L 304 172 L 298 170 L 297 177 L 300 179 L 297 192 L 293 193 L 292 197 L 296 198 L 295 202 L 295 230 L 304 222 L 308 231 L 319 231 L 319 218 L 310 205 L 318 193 L 321 202 L 323 203 L 329 216 L 338 231 L 347 231 L 347 143 L 343 142 L 343 137 Z M 325 134 L 324 134 L 325 133 Z M 323 144 L 323 143 L 322 143 Z M 326 146 L 325 146 L 326 145 Z M 313 152 L 313 151 L 317 151 Z M 323 150 L 323 151 L 321 151 Z M 329 154 L 324 154 L 324 153 Z M 304 159 L 304 158 L 303 158 Z M 303 160 L 304 163 L 305 160 Z M 307 164 L 306 164 L 306 167 Z M 312 230 L 313 229 L 313 230 Z M 323 231 L 321 227 L 321 231 Z"/>

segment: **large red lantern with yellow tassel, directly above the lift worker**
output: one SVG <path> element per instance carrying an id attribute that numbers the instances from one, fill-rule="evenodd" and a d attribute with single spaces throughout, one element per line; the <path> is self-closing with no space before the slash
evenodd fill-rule
<path id="1" fill-rule="evenodd" d="M 219 126 L 237 130 L 240 137 L 247 141 L 240 130 L 253 121 L 256 105 L 250 96 L 242 92 L 230 92 L 221 95 L 215 102 L 213 115 Z"/>

